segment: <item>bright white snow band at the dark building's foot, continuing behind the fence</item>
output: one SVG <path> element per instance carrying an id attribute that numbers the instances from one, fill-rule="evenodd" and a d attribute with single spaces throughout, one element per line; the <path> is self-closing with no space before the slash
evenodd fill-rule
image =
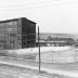
<path id="1" fill-rule="evenodd" d="M 65 51 L 72 49 L 70 47 L 41 47 L 41 52 L 48 51 Z M 9 53 L 16 53 L 16 54 L 32 54 L 38 53 L 38 48 L 29 48 L 29 49 L 18 49 L 18 50 L 8 50 Z"/>

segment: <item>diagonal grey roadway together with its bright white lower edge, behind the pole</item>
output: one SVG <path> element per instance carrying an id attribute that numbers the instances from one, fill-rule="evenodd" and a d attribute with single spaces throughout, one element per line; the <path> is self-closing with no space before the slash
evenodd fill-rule
<path id="1" fill-rule="evenodd" d="M 8 57 L 0 57 L 1 64 L 8 64 L 13 66 L 26 67 L 38 70 L 38 63 L 25 60 L 15 60 Z M 41 63 L 41 70 L 49 74 L 57 74 L 78 78 L 78 63 L 73 64 L 47 64 Z"/>

